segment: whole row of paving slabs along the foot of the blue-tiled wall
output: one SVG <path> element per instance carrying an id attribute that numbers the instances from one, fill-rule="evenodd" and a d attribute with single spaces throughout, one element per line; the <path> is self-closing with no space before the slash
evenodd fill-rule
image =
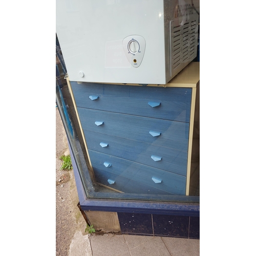
<path id="1" fill-rule="evenodd" d="M 93 236 L 91 246 L 93 256 L 199 256 L 195 239 L 104 234 Z"/>

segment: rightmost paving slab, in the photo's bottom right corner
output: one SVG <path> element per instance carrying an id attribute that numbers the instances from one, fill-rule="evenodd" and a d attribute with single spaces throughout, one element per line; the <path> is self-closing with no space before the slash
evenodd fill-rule
<path id="1" fill-rule="evenodd" d="M 162 237 L 162 240 L 172 256 L 200 255 L 200 240 L 198 239 Z"/>

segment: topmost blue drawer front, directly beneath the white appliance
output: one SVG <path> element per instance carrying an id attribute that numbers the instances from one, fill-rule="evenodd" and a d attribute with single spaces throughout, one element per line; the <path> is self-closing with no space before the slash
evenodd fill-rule
<path id="1" fill-rule="evenodd" d="M 77 107 L 189 122 L 191 88 L 71 82 Z M 91 100 L 90 96 L 98 96 Z M 160 102 L 153 108 L 148 102 Z"/>

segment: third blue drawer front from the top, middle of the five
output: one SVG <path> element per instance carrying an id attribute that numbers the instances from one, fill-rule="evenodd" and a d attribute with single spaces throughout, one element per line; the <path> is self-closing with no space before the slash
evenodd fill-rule
<path id="1" fill-rule="evenodd" d="M 138 142 L 91 131 L 84 131 L 84 135 L 89 150 L 186 176 L 187 152 L 174 150 L 169 147 L 157 146 L 154 143 Z M 108 146 L 102 147 L 100 143 L 103 145 L 108 144 Z M 152 155 L 159 156 L 161 160 L 154 161 Z"/>

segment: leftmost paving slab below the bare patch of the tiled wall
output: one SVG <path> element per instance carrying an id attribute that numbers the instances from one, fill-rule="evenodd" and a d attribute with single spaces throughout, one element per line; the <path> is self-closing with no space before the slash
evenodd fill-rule
<path id="1" fill-rule="evenodd" d="M 103 234 L 103 236 L 92 236 L 91 246 L 93 256 L 119 256 L 129 252 L 129 248 L 122 235 Z M 129 255 L 129 254 L 127 254 Z"/>

